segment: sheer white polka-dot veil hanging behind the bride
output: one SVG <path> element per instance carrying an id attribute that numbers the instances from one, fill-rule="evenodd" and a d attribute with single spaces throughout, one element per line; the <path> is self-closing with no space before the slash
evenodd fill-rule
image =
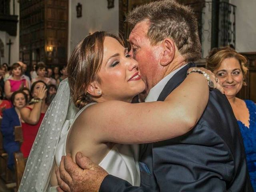
<path id="1" fill-rule="evenodd" d="M 72 120 L 77 112 L 78 108 L 71 100 L 66 78 L 60 83 L 57 94 L 42 120 L 26 163 L 19 192 L 47 190 L 62 126 Z"/>

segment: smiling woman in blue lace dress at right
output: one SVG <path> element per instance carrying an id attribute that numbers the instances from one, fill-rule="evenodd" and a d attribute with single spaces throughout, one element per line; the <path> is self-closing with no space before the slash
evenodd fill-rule
<path id="1" fill-rule="evenodd" d="M 256 104 L 236 97 L 241 90 L 248 68 L 246 58 L 230 47 L 214 48 L 206 59 L 207 68 L 220 80 L 225 95 L 236 116 L 246 152 L 250 179 L 256 191 Z"/>

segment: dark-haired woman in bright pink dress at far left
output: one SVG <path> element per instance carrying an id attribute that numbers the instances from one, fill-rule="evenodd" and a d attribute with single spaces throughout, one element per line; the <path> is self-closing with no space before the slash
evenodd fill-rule
<path id="1" fill-rule="evenodd" d="M 4 93 L 6 98 L 10 99 L 14 91 L 22 87 L 29 87 L 26 79 L 22 78 L 22 68 L 20 64 L 14 63 L 12 65 L 12 76 L 6 80 L 4 84 Z"/>

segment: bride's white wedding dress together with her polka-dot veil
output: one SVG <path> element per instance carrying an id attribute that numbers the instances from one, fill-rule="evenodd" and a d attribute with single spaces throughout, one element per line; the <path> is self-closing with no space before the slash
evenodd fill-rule
<path id="1" fill-rule="evenodd" d="M 66 136 L 80 111 L 70 96 L 68 78 L 60 82 L 57 94 L 52 100 L 30 151 L 18 192 L 46 192 L 50 190 L 50 176 L 54 158 L 60 163 L 66 155 Z M 138 166 L 138 145 L 115 144 L 100 162 L 109 174 L 122 178 L 134 186 L 140 185 Z M 51 187 L 56 191 L 56 187 Z"/>

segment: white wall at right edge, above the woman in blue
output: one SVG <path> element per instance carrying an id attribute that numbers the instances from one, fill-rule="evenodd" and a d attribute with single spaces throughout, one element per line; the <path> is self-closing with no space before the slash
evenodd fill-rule
<path id="1" fill-rule="evenodd" d="M 230 0 L 236 7 L 236 50 L 256 52 L 256 0 Z"/>

